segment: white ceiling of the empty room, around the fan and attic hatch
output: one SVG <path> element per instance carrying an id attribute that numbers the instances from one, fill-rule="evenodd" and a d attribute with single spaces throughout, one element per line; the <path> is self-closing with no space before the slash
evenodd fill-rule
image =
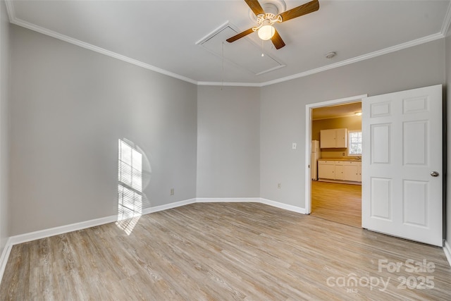
<path id="1" fill-rule="evenodd" d="M 307 1 L 285 2 L 290 9 Z M 282 67 L 260 75 L 233 63 L 245 53 L 258 64 L 256 33 L 216 41 L 216 54 L 196 44 L 218 27 L 253 27 L 243 0 L 9 0 L 7 8 L 11 23 L 198 85 L 270 85 L 440 39 L 451 22 L 450 0 L 319 4 L 319 11 L 276 25 L 286 46 L 276 50 L 266 41 L 263 49 Z M 337 56 L 326 59 L 328 51 Z"/>

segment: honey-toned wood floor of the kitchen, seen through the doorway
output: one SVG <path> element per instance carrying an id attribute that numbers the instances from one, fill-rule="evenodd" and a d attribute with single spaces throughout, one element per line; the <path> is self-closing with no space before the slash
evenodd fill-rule
<path id="1" fill-rule="evenodd" d="M 311 181 L 311 215 L 362 227 L 362 185 Z"/>

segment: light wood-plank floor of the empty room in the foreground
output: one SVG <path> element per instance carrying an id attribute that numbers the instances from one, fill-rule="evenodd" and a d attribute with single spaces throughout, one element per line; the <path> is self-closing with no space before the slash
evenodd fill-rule
<path id="1" fill-rule="evenodd" d="M 0 299 L 451 300 L 451 269 L 440 247 L 264 204 L 197 203 L 141 216 L 130 235 L 110 223 L 15 245 Z"/>

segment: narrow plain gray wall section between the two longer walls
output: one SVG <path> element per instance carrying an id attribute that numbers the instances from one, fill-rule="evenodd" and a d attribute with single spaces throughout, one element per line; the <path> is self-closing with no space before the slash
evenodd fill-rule
<path id="1" fill-rule="evenodd" d="M 259 197 L 259 90 L 198 87 L 197 197 Z"/>

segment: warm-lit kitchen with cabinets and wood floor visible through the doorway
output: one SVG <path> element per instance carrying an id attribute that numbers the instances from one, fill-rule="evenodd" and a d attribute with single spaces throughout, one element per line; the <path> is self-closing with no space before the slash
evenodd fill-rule
<path id="1" fill-rule="evenodd" d="M 311 116 L 311 215 L 361 228 L 362 102 Z"/>

